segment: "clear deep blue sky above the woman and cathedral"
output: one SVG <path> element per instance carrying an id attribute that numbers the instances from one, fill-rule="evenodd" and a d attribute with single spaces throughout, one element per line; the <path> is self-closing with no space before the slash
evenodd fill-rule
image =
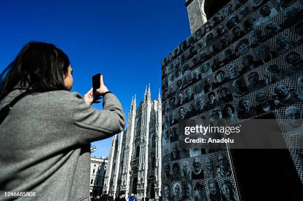
<path id="1" fill-rule="evenodd" d="M 84 95 L 91 77 L 120 99 L 126 116 L 132 96 L 152 99 L 161 86 L 161 60 L 190 35 L 185 0 L 0 1 L 0 71 L 31 41 L 55 44 L 74 69 L 72 91 Z M 95 106 L 100 108 L 100 106 Z M 107 156 L 111 138 L 94 142 Z"/>

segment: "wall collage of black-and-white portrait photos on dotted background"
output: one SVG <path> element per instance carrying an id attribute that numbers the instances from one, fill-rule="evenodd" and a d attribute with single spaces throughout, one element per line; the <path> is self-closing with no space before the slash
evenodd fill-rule
<path id="1" fill-rule="evenodd" d="M 303 182 L 302 43 L 302 0 L 232 0 L 162 60 L 165 201 L 239 200 L 227 148 L 179 147 L 186 119 L 277 119 Z"/>

